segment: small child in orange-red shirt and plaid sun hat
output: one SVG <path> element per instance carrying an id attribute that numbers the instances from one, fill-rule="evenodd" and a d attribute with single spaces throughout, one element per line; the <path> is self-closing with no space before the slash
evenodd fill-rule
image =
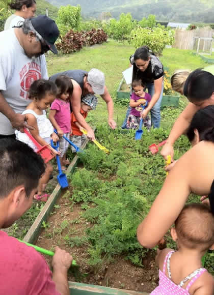
<path id="1" fill-rule="evenodd" d="M 90 110 L 95 110 L 97 106 L 97 97 L 93 94 L 87 94 L 81 101 L 81 114 L 86 119 Z M 74 113 L 71 113 L 71 141 L 81 148 L 82 144 L 86 140 L 86 135 L 81 131 L 83 127 L 78 123 Z M 76 153 L 76 150 L 71 146 L 72 152 Z"/>

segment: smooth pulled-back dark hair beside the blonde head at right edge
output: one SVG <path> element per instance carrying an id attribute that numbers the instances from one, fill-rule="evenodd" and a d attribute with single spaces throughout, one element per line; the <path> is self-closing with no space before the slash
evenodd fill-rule
<path id="1" fill-rule="evenodd" d="M 197 69 L 193 71 L 185 81 L 183 94 L 190 101 L 203 101 L 211 97 L 214 92 L 214 76 Z"/>

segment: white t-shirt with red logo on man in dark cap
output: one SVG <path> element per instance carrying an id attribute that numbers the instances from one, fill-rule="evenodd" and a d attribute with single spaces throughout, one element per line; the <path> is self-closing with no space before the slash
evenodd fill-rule
<path id="1" fill-rule="evenodd" d="M 16 38 L 14 28 L 0 33 L 0 91 L 16 113 L 31 102 L 28 91 L 38 79 L 48 79 L 44 54 L 29 58 Z M 0 134 L 14 134 L 8 118 L 0 112 Z"/>

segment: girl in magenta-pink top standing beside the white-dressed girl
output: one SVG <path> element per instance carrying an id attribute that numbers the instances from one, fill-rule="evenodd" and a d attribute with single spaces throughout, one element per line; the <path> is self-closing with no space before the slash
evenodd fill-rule
<path id="1" fill-rule="evenodd" d="M 66 159 L 66 152 L 68 150 L 69 143 L 62 137 L 63 135 L 70 139 L 71 133 L 71 111 L 70 111 L 70 97 L 73 93 L 73 84 L 71 79 L 67 76 L 61 75 L 55 81 L 58 94 L 57 98 L 50 107 L 49 120 L 53 127 L 57 129 L 60 137 L 59 151 L 60 162 L 62 170 L 66 169 L 66 165 L 69 165 L 69 160 Z"/>

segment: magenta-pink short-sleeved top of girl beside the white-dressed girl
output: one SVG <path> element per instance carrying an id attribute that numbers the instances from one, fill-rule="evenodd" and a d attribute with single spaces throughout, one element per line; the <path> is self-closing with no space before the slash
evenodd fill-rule
<path id="1" fill-rule="evenodd" d="M 55 101 L 52 102 L 50 109 L 55 109 L 57 111 L 54 117 L 61 130 L 64 133 L 69 133 L 71 131 L 71 112 L 69 101 L 67 102 L 56 98 Z"/>

